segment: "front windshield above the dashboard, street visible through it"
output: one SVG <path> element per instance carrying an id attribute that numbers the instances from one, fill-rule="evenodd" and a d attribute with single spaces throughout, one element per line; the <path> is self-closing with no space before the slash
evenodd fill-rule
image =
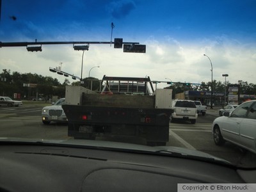
<path id="1" fill-rule="evenodd" d="M 181 147 L 256 168 L 255 108 L 236 108 L 256 99 L 256 1 L 0 3 L 0 96 L 22 101 L 1 100 L 1 138 Z M 179 115 L 174 100 L 207 109 Z M 222 132 L 237 117 L 252 131 L 241 145 Z"/>

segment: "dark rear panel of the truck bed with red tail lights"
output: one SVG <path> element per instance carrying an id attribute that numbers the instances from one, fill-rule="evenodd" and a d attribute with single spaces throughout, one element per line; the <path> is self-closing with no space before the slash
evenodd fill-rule
<path id="1" fill-rule="evenodd" d="M 62 105 L 68 122 L 95 124 L 169 125 L 171 109 L 111 108 Z"/>

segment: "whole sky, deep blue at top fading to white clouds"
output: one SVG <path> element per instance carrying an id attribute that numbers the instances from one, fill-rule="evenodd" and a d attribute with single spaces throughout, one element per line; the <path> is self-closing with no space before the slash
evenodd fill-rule
<path id="1" fill-rule="evenodd" d="M 127 53 L 113 45 L 90 44 L 83 77 L 145 77 L 157 81 L 201 83 L 213 79 L 256 84 L 255 0 L 2 0 L 1 42 L 140 42 L 147 52 Z M 72 45 L 0 48 L 0 70 L 36 73 L 59 67 L 81 76 L 82 51 Z M 68 77 L 68 80 L 73 80 Z M 165 86 L 166 84 L 164 84 Z"/>

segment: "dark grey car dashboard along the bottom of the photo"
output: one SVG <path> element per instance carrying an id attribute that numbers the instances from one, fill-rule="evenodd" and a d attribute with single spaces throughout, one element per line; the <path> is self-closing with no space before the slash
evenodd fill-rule
<path id="1" fill-rule="evenodd" d="M 177 191 L 256 178 L 255 170 L 111 149 L 5 143 L 0 151 L 0 191 Z"/>

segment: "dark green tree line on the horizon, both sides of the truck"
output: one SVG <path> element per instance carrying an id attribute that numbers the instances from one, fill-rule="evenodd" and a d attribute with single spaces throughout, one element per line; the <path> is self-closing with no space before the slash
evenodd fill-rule
<path id="1" fill-rule="evenodd" d="M 93 81 L 92 81 L 93 80 Z M 51 76 L 41 76 L 38 74 L 19 72 L 12 72 L 7 69 L 3 69 L 0 74 L 0 95 L 8 96 L 13 98 L 14 93 L 20 93 L 20 99 L 35 99 L 44 98 L 49 99 L 51 95 L 57 95 L 58 97 L 65 97 L 65 86 L 66 85 L 81 85 L 85 88 L 92 90 L 98 90 L 100 87 L 99 79 L 94 77 L 86 77 L 83 79 L 84 83 L 80 81 L 70 83 L 68 79 L 61 84 L 58 79 Z M 27 84 L 36 84 L 36 86 L 27 86 Z M 238 81 L 240 94 L 255 95 L 256 84 L 248 83 L 247 81 Z M 226 87 L 228 87 L 227 83 Z M 172 88 L 173 98 L 176 93 L 182 93 L 189 90 L 195 91 L 211 91 L 211 81 L 202 82 L 200 85 L 175 83 L 166 88 Z M 214 92 L 225 92 L 225 84 L 221 81 L 214 80 L 212 82 L 212 90 Z"/>

